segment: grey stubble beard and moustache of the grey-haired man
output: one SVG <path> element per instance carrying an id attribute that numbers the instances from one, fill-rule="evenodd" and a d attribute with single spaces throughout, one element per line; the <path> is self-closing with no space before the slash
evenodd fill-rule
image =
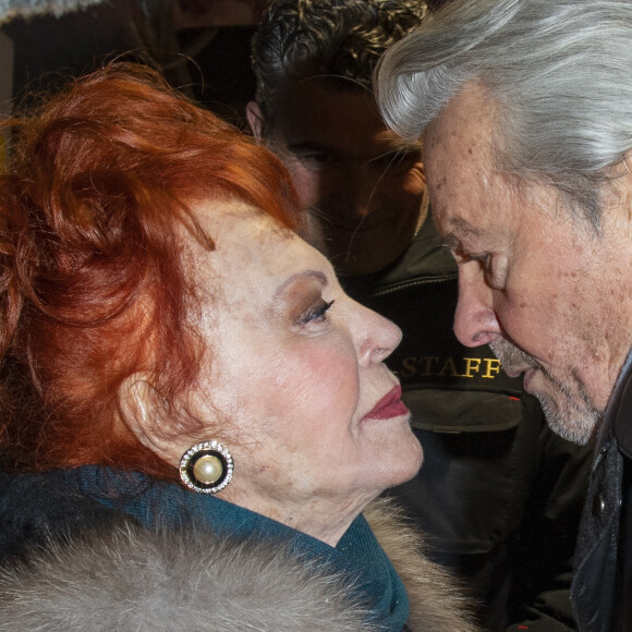
<path id="1" fill-rule="evenodd" d="M 506 372 L 512 367 L 521 370 L 537 369 L 559 393 L 557 398 L 549 393 L 533 393 L 539 401 L 546 421 L 554 433 L 580 446 L 586 445 L 593 438 L 603 411 L 593 404 L 584 382 L 574 369 L 571 370 L 574 388 L 570 388 L 569 385 L 555 379 L 534 357 L 507 340 L 496 340 L 490 342 L 489 347 Z"/>

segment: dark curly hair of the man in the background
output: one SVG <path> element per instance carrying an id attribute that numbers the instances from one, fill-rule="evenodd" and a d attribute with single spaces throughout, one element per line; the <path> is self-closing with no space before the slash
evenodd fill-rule
<path id="1" fill-rule="evenodd" d="M 256 100 L 270 123 L 289 78 L 330 77 L 340 89 L 370 89 L 385 50 L 422 23 L 421 0 L 277 0 L 253 39 Z"/>

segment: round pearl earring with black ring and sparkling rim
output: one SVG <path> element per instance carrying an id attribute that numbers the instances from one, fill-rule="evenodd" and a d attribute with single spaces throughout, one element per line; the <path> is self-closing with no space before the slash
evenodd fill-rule
<path id="1" fill-rule="evenodd" d="M 218 441 L 204 441 L 184 452 L 180 461 L 180 478 L 198 494 L 217 494 L 232 478 L 233 460 Z"/>

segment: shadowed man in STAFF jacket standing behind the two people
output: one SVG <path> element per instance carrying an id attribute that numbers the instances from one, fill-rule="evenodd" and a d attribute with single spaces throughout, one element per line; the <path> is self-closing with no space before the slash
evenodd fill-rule
<path id="1" fill-rule="evenodd" d="M 426 11 L 418 0 L 272 2 L 253 42 L 247 118 L 292 173 L 345 291 L 403 329 L 389 364 L 425 461 L 394 494 L 433 557 L 464 579 L 486 629 L 569 630 L 588 451 L 546 428 L 488 347 L 454 338 L 457 267 L 430 217 L 422 146 L 386 127 L 373 96 L 379 56 Z"/>

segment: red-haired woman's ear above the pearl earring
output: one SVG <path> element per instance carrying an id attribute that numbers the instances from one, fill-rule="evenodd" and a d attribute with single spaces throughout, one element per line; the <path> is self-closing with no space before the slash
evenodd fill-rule
<path id="1" fill-rule="evenodd" d="M 123 424 L 143 446 L 167 463 L 180 462 L 181 448 L 173 445 L 165 398 L 145 373 L 135 373 L 119 387 L 119 409 Z"/>

